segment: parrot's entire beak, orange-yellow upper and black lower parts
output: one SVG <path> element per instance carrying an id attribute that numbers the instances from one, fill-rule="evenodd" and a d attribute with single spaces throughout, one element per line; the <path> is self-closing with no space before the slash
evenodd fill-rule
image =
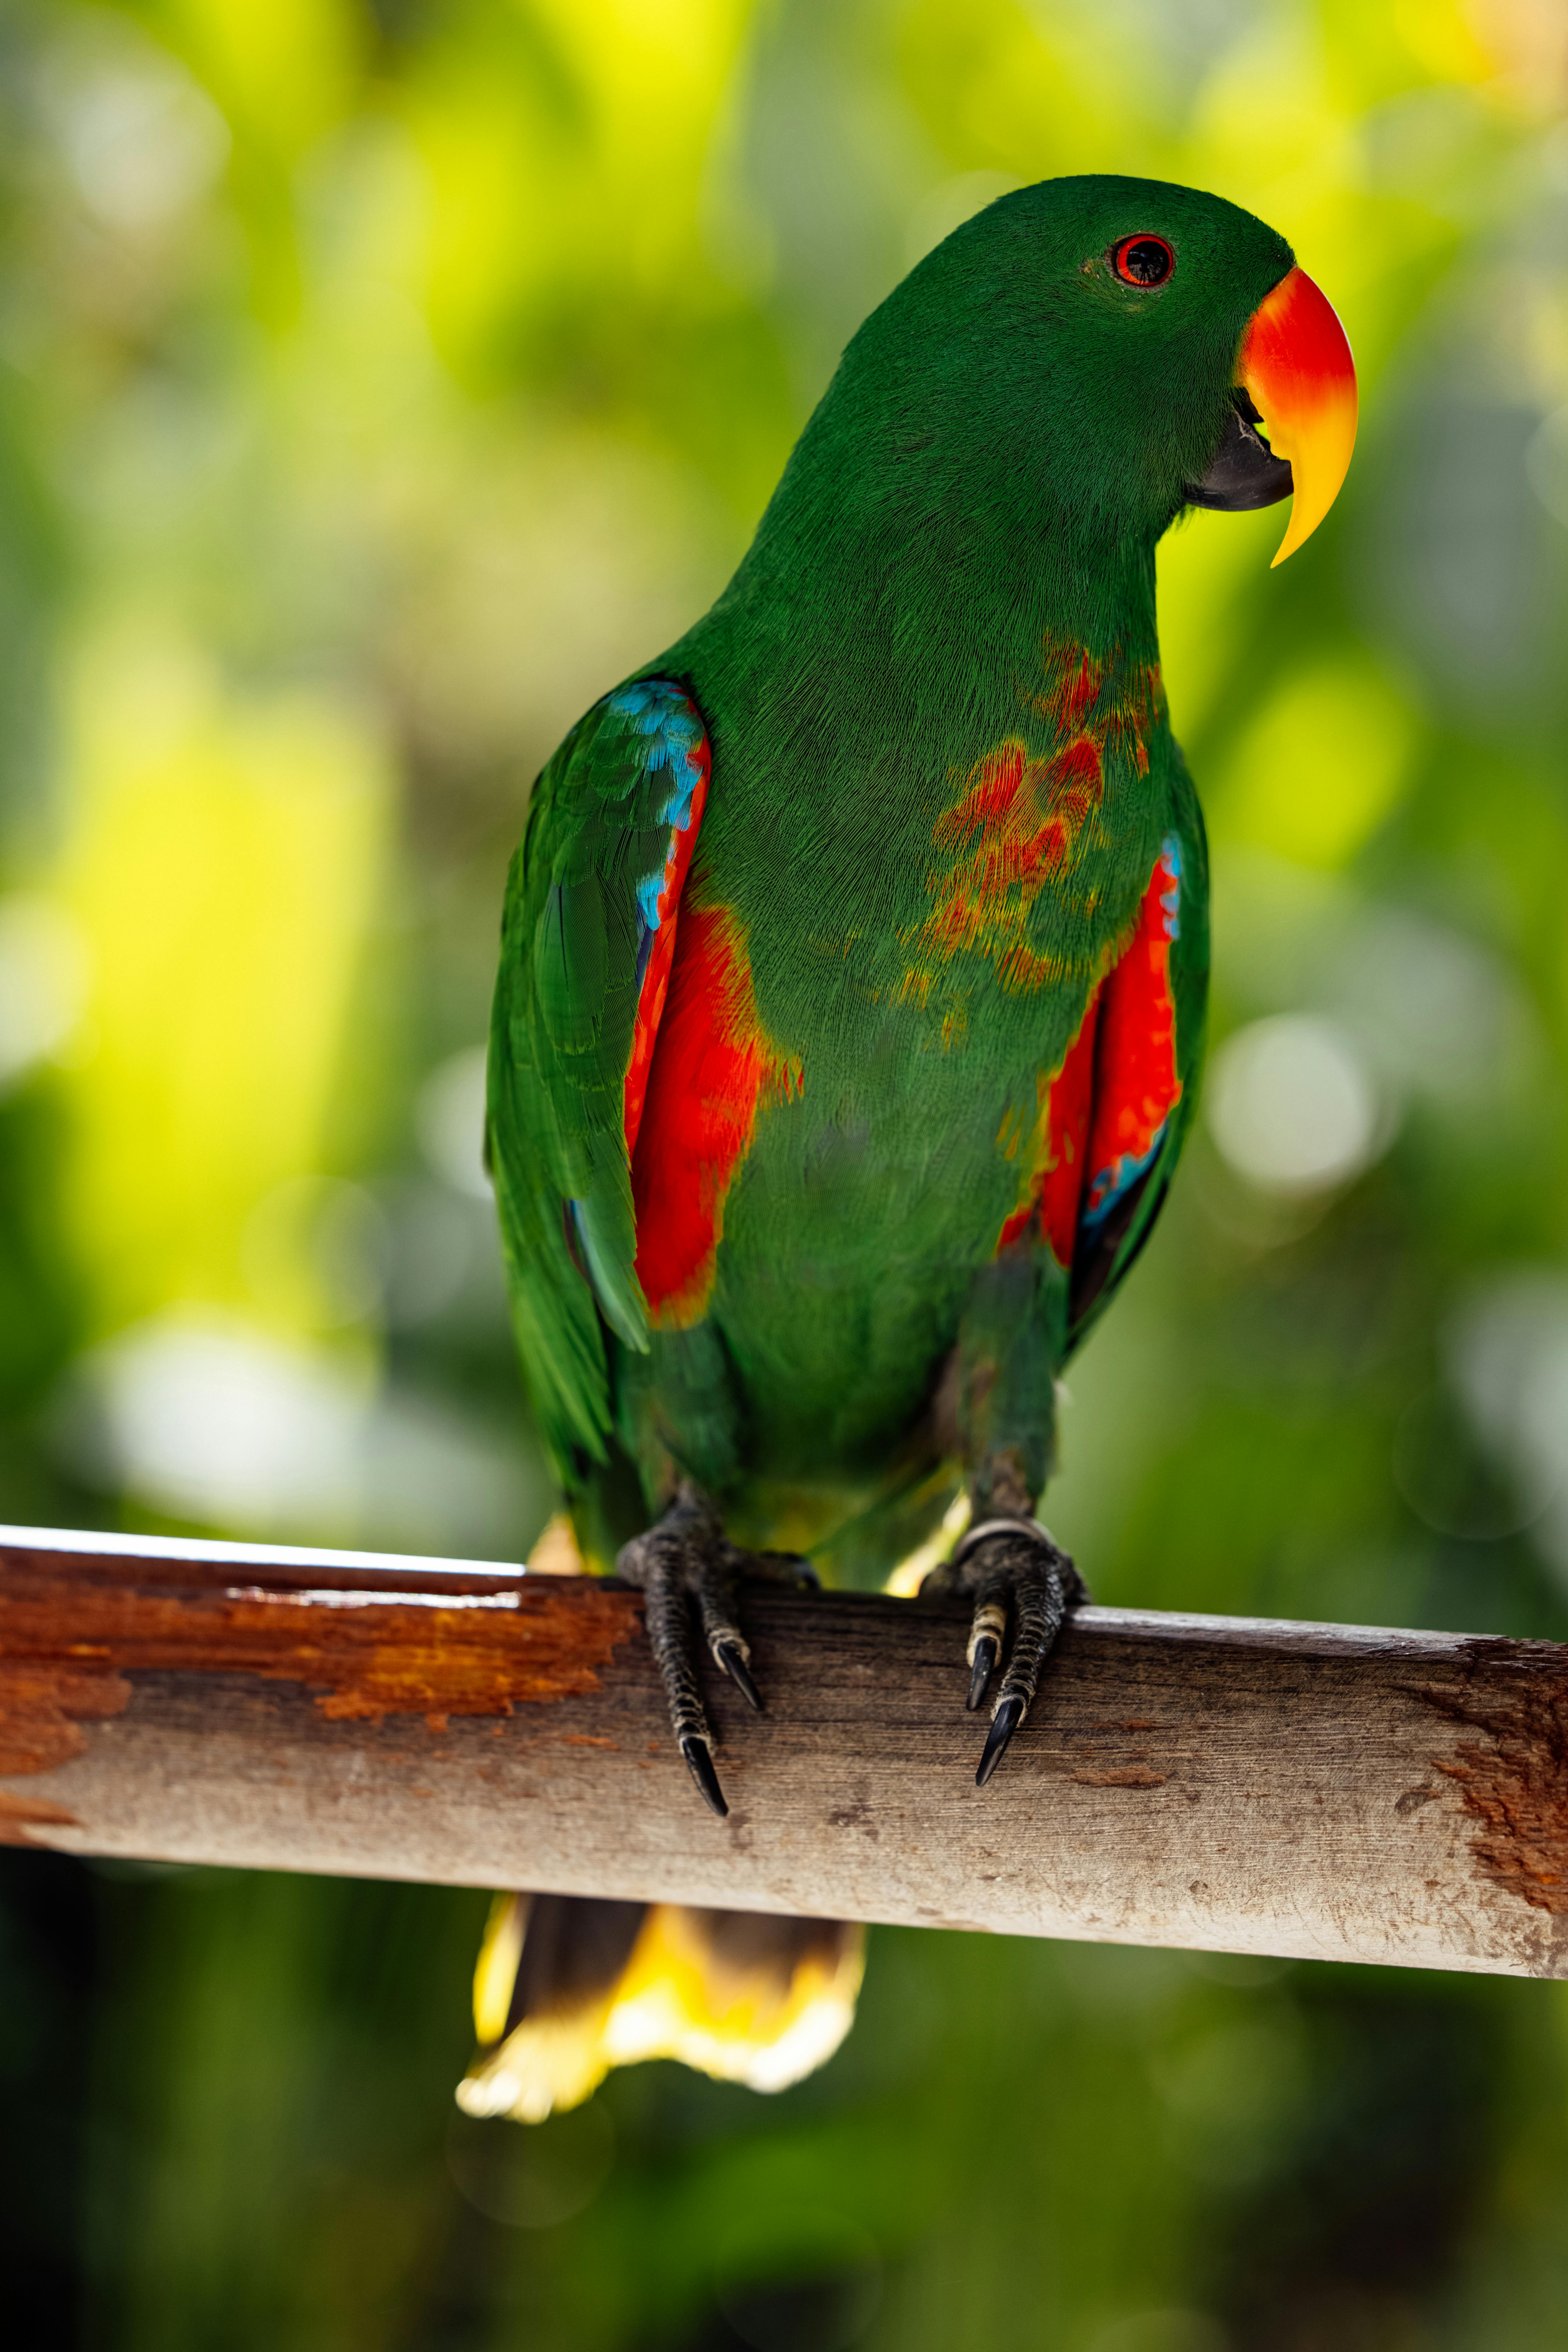
<path id="1" fill-rule="evenodd" d="M 1215 459 L 1187 496 L 1197 506 L 1272 506 L 1295 494 L 1274 557 L 1284 564 L 1340 494 L 1356 447 L 1356 367 L 1328 296 L 1291 270 L 1258 306 L 1237 353 L 1237 412 Z M 1262 423 L 1262 442 L 1251 423 Z"/>

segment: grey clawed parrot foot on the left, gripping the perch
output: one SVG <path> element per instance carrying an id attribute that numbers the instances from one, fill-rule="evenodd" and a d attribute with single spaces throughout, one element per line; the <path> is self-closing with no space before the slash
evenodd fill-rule
<path id="1" fill-rule="evenodd" d="M 715 1813 L 729 1813 L 719 1776 L 712 1769 L 715 1738 L 708 1729 L 696 1675 L 691 1604 L 696 1602 L 703 1642 L 712 1663 L 729 1675 L 748 1708 L 762 1715 L 762 1691 L 752 1682 L 752 1653 L 736 1623 L 736 1578 L 766 1576 L 788 1583 L 816 1583 L 795 1552 L 743 1552 L 724 1524 L 691 1484 L 682 1484 L 663 1519 L 621 1545 L 616 1573 L 646 1595 L 646 1625 L 654 1661 L 670 1700 L 670 1729 L 686 1771 Z"/>

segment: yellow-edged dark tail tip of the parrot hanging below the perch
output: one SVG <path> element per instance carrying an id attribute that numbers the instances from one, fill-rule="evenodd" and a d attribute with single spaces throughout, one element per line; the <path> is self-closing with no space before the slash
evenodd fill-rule
<path id="1" fill-rule="evenodd" d="M 496 1896 L 458 2105 L 541 2124 L 637 2058 L 783 2091 L 837 2051 L 863 1966 L 865 1929 L 842 1919 Z"/>

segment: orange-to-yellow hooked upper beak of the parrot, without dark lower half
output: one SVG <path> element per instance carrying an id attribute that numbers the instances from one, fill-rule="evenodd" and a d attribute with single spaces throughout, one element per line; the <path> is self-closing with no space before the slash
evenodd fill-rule
<path id="1" fill-rule="evenodd" d="M 1356 447 L 1356 362 L 1333 303 L 1305 270 L 1281 278 L 1253 313 L 1237 374 L 1269 449 L 1291 466 L 1291 527 L 1274 557 L 1284 564 L 1338 499 Z"/>

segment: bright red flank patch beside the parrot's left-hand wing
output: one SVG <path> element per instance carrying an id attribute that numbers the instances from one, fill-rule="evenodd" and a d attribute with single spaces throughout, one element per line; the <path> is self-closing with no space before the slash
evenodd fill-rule
<path id="1" fill-rule="evenodd" d="M 738 917 L 684 906 L 632 1157 L 637 1282 L 654 1324 L 679 1331 L 703 1315 L 757 1112 L 802 1089 L 799 1061 L 757 1016 Z"/>

